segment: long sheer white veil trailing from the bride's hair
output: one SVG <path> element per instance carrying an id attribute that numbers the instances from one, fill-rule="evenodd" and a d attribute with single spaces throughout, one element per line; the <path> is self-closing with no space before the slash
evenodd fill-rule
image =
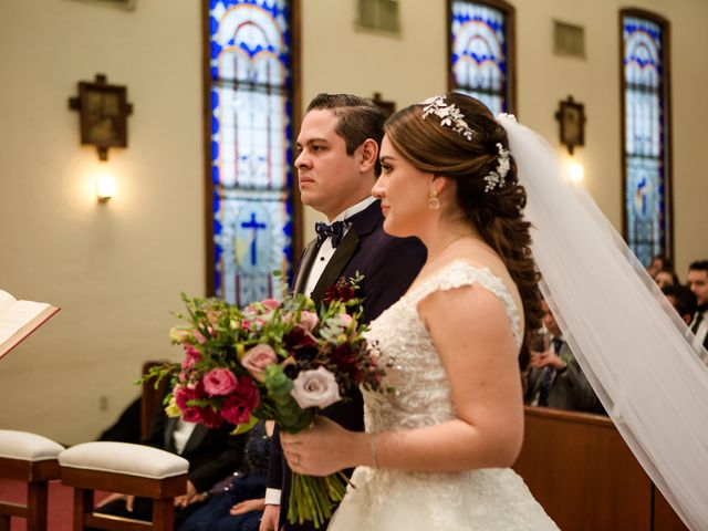
<path id="1" fill-rule="evenodd" d="M 541 290 L 615 426 L 683 521 L 708 529 L 705 351 L 553 148 L 499 115 L 528 194 Z M 705 357 L 704 357 L 705 358 Z"/>

